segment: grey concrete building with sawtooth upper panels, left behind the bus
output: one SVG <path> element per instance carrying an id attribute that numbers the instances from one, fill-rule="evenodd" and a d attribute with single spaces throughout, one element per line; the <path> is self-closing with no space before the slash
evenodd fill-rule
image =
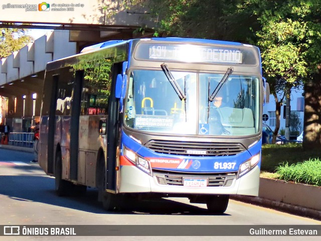
<path id="1" fill-rule="evenodd" d="M 69 31 L 51 31 L 0 61 L 0 95 L 7 97 L 2 122 L 19 132 L 23 118 L 40 115 L 46 64 L 77 53 Z M 4 99 L 3 99 L 4 100 Z M 7 106 L 6 106 L 7 105 Z"/>

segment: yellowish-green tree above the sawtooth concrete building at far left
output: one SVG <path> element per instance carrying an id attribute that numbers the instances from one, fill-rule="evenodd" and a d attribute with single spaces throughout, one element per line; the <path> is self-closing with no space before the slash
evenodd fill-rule
<path id="1" fill-rule="evenodd" d="M 33 41 L 25 29 L 5 28 L 0 31 L 0 58 L 6 58 Z"/>

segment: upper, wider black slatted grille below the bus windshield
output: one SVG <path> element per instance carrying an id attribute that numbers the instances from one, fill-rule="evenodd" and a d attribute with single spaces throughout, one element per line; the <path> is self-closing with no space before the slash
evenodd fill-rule
<path id="1" fill-rule="evenodd" d="M 145 146 L 157 153 L 198 157 L 233 156 L 245 151 L 245 148 L 240 143 L 151 140 Z"/>

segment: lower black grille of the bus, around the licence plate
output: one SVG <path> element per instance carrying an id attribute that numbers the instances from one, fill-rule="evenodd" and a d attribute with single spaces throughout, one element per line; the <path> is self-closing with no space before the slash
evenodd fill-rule
<path id="1" fill-rule="evenodd" d="M 237 172 L 204 173 L 204 174 L 181 174 L 179 172 L 168 172 L 153 169 L 153 176 L 159 184 L 183 186 L 184 178 L 208 178 L 209 187 L 231 186 L 236 179 Z"/>

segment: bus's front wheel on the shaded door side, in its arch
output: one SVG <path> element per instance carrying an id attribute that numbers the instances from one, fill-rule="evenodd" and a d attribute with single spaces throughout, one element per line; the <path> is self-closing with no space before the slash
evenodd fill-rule
<path id="1" fill-rule="evenodd" d="M 99 166 L 98 178 L 98 201 L 102 202 L 102 206 L 106 211 L 114 210 L 116 207 L 116 195 L 110 192 L 106 192 L 105 183 L 106 183 L 106 167 L 104 164 L 104 160 L 101 159 Z"/>

